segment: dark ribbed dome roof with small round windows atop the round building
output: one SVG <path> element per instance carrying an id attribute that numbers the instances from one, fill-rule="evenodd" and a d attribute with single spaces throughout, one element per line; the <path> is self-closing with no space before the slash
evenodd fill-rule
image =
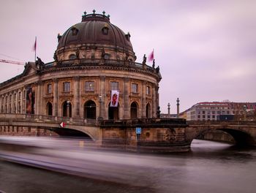
<path id="1" fill-rule="evenodd" d="M 124 31 L 110 23 L 110 16 L 105 12 L 96 14 L 95 10 L 92 14 L 84 15 L 80 23 L 70 27 L 62 36 L 59 36 L 59 48 L 69 45 L 82 44 L 99 44 L 110 45 L 122 48 L 124 50 L 132 50 L 132 43 L 129 41 L 129 32 Z"/>

